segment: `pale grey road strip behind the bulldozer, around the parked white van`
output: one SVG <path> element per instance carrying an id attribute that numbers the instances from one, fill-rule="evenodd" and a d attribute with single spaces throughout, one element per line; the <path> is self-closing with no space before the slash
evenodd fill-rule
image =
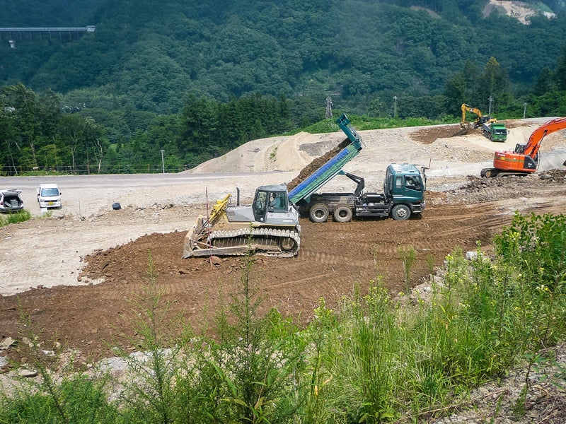
<path id="1" fill-rule="evenodd" d="M 118 202 L 123 206 L 187 204 L 216 201 L 241 187 L 243 198 L 253 196 L 261 184 L 290 181 L 296 172 L 258 172 L 254 174 L 137 174 L 76 175 L 57 177 L 0 177 L 0 188 L 21 189 L 24 207 L 33 215 L 42 211 L 36 192 L 40 183 L 54 182 L 62 192 L 62 211 L 54 213 L 88 216 L 108 211 Z"/>

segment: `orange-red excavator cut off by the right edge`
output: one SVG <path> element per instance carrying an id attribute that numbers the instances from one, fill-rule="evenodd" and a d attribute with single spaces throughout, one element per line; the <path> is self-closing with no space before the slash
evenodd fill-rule
<path id="1" fill-rule="evenodd" d="M 555 118 L 542 124 L 533 131 L 526 144 L 517 144 L 514 151 L 495 152 L 493 167 L 484 168 L 482 177 L 495 177 L 496 175 L 529 175 L 538 170 L 538 149 L 541 142 L 555 131 L 566 129 L 566 117 Z"/>

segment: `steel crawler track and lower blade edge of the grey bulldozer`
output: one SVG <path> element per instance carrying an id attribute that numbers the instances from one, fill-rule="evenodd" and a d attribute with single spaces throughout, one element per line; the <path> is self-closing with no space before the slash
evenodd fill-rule
<path id="1" fill-rule="evenodd" d="M 198 248 L 193 249 L 190 256 L 241 256 L 253 251 L 262 256 L 289 258 L 299 253 L 300 245 L 299 232 L 294 230 L 246 227 L 212 231 L 208 242 L 197 243 Z"/>

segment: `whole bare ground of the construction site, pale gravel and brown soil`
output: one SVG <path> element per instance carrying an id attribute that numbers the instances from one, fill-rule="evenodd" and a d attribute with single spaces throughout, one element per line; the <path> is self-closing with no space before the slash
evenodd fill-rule
<path id="1" fill-rule="evenodd" d="M 515 211 L 563 213 L 563 133 L 548 136 L 541 149 L 541 167 L 562 170 L 541 169 L 529 177 L 478 177 L 480 169 L 490 165 L 493 151 L 524 143 L 540 121 L 507 124 L 507 143 L 492 143 L 474 131 L 450 137 L 457 125 L 361 131 L 364 149 L 346 170 L 366 177 L 367 190 L 381 191 L 388 163 L 427 165 L 424 216 L 325 224 L 302 220 L 298 257 L 259 257 L 253 266 L 261 310 L 276 307 L 308 322 L 319 298 L 335 305 L 354 286 L 364 293 L 370 281 L 380 277 L 395 295 L 405 290 L 402 249 L 415 249 L 410 285 L 417 285 L 455 248 L 470 251 L 479 241 L 489 249 L 492 235 Z M 135 350 L 132 302 L 144 297 L 150 257 L 163 301 L 171 302 L 168 316 L 181 315 L 200 331 L 230 302 L 241 276 L 241 259 L 223 259 L 216 265 L 202 258 L 181 259 L 185 233 L 206 209 L 205 194 L 216 200 L 237 185 L 246 199 L 260 184 L 289 182 L 342 139 L 342 133 L 333 133 L 253 141 L 180 175 L 123 177 L 122 182 L 121 177 L 108 176 L 86 182 L 79 177 L 59 179 L 61 211 L 0 230 L 0 341 L 19 338 L 19 317 L 25 312 L 42 329 L 42 339 L 56 336 L 78 349 L 84 360 L 110 356 L 108 346 L 117 344 Z M 32 187 L 37 181 L 0 178 L 0 186 L 18 184 Z M 351 185 L 340 177 L 329 189 L 350 190 Z M 28 208 L 40 215 L 31 189 L 25 195 Z M 120 211 L 112 211 L 115 201 L 121 202 Z M 18 358 L 13 349 L 8 355 Z"/>

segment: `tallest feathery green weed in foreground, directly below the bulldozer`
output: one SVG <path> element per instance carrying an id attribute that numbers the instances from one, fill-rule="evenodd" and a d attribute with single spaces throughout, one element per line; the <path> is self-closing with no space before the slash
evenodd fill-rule
<path id="1" fill-rule="evenodd" d="M 209 363 L 219 377 L 213 387 L 214 417 L 221 422 L 284 422 L 302 403 L 304 344 L 277 310 L 265 317 L 258 313 L 262 299 L 252 278 L 253 263 L 249 254 L 242 261 L 231 317 L 218 320 L 224 326 L 210 351 Z"/>

